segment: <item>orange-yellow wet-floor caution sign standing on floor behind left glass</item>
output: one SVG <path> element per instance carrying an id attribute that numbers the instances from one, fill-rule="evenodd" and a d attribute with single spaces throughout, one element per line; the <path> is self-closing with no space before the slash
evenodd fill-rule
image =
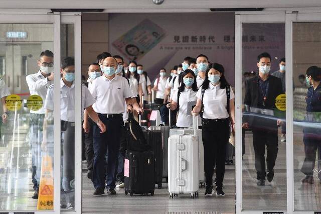
<path id="1" fill-rule="evenodd" d="M 52 157 L 42 157 L 37 210 L 54 209 L 54 175 Z"/>

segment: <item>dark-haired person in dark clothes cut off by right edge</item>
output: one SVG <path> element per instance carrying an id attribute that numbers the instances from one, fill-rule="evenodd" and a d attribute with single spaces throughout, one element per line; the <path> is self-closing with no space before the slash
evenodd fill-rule
<path id="1" fill-rule="evenodd" d="M 321 68 L 311 66 L 306 70 L 306 82 L 311 85 L 307 89 L 306 118 L 313 123 L 321 122 Z M 318 128 L 305 127 L 303 129 L 303 142 L 305 158 L 301 172 L 305 174 L 302 183 L 313 184 L 313 168 L 315 165 L 316 150 L 321 148 L 321 130 Z M 321 173 L 318 173 L 321 182 Z"/>

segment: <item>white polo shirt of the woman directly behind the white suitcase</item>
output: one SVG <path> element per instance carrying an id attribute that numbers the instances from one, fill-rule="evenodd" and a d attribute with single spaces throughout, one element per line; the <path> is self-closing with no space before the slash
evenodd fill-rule
<path id="1" fill-rule="evenodd" d="M 192 88 L 187 89 L 185 88 L 184 91 L 180 94 L 180 109 L 179 109 L 179 116 L 177 118 L 176 126 L 178 127 L 192 127 L 193 126 L 193 116 L 191 112 L 188 111 L 188 102 L 189 101 L 197 101 L 196 97 L 197 91 L 193 91 Z M 178 103 L 178 90 L 173 95 L 173 101 Z M 199 123 L 200 124 L 200 123 Z"/>

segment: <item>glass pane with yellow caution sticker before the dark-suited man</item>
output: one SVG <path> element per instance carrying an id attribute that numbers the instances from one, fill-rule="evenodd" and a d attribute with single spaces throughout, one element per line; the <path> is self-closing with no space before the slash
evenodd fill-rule
<path id="1" fill-rule="evenodd" d="M 243 210 L 286 210 L 284 57 L 284 23 L 242 24 Z"/>

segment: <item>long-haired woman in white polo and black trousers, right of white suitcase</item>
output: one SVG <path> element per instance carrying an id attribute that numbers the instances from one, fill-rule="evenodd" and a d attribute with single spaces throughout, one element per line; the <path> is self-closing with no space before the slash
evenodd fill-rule
<path id="1" fill-rule="evenodd" d="M 226 144 L 230 137 L 230 122 L 234 132 L 234 93 L 224 76 L 221 64 L 211 64 L 206 71 L 203 85 L 198 90 L 193 113 L 203 110 L 202 140 L 204 146 L 205 196 L 212 196 L 213 169 L 216 166 L 216 195 L 222 190 L 225 173 Z M 229 99 L 229 100 L 228 100 Z"/>

